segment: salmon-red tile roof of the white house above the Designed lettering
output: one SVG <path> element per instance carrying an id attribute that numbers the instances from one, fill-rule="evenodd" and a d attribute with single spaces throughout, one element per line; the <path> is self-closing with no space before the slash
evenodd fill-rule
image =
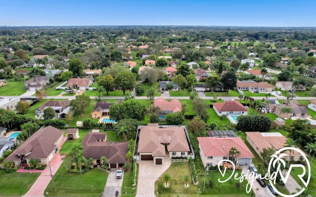
<path id="1" fill-rule="evenodd" d="M 235 147 L 240 151 L 239 158 L 254 158 L 247 145 L 239 137 L 197 137 L 204 156 L 229 157 Z"/>

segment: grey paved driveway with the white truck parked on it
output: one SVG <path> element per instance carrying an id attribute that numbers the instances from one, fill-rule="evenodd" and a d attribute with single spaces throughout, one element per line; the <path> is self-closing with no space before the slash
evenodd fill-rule
<path id="1" fill-rule="evenodd" d="M 111 169 L 108 179 L 107 179 L 107 183 L 105 184 L 105 187 L 104 187 L 102 197 L 114 197 L 116 191 L 118 191 L 118 196 L 120 197 L 120 190 L 122 188 L 123 176 L 124 176 L 124 172 L 122 174 L 122 178 L 117 179 L 116 169 Z"/>

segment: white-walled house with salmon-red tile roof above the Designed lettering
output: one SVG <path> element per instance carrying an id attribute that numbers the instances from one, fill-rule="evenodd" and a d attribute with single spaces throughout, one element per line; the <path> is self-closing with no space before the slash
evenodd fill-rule
<path id="1" fill-rule="evenodd" d="M 197 137 L 199 153 L 204 167 L 215 166 L 222 160 L 232 160 L 231 148 L 240 151 L 237 164 L 250 165 L 254 155 L 240 137 Z"/>

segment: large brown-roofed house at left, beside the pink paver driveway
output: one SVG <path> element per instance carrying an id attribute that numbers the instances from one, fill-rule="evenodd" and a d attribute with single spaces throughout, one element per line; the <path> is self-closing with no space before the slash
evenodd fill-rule
<path id="1" fill-rule="evenodd" d="M 3 163 L 12 161 L 15 165 L 29 164 L 30 159 L 38 159 L 41 165 L 48 165 L 48 161 L 51 161 L 63 144 L 63 136 L 63 131 L 52 126 L 40 128 L 15 149 Z"/>

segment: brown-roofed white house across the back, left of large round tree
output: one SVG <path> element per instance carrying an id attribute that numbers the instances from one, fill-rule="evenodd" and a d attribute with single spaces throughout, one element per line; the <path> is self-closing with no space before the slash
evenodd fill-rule
<path id="1" fill-rule="evenodd" d="M 35 114 L 42 116 L 44 114 L 44 109 L 51 107 L 55 110 L 56 115 L 59 115 L 68 107 L 69 104 L 70 100 L 48 100 L 35 110 Z"/>

